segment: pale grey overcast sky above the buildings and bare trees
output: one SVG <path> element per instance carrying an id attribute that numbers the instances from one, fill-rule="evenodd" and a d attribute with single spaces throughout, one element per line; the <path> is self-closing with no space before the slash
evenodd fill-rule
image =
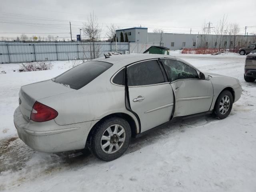
<path id="1" fill-rule="evenodd" d="M 0 37 L 48 34 L 75 38 L 90 12 L 102 26 L 101 37 L 106 37 L 106 26 L 120 28 L 148 27 L 148 32 L 161 28 L 164 32 L 192 33 L 202 31 L 202 24 L 216 26 L 224 14 L 228 22 L 239 24 L 240 34 L 245 26 L 248 34 L 256 33 L 256 0 L 0 0 Z M 39 34 L 42 33 L 42 34 Z M 44 34 L 43 34 L 44 33 Z"/>

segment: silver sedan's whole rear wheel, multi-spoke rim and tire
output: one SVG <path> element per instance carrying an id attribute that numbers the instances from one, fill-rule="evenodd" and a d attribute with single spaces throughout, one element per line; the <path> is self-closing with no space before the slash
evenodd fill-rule
<path id="1" fill-rule="evenodd" d="M 100 160 L 112 161 L 124 154 L 130 139 L 129 123 L 122 118 L 112 117 L 96 125 L 88 146 L 92 154 Z"/>

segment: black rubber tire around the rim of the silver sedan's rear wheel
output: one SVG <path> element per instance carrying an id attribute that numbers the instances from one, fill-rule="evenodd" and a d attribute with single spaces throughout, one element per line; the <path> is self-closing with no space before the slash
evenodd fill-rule
<path id="1" fill-rule="evenodd" d="M 103 134 L 105 134 L 105 132 L 107 131 L 107 129 L 116 124 L 120 125 L 120 127 L 122 129 L 124 129 L 124 131 L 125 131 L 124 142 L 122 142 L 122 146 L 120 147 L 119 150 L 116 150 L 116 147 L 113 146 L 112 148 L 115 148 L 116 152 L 114 152 L 112 154 L 107 154 L 106 152 L 103 151 L 103 149 L 101 147 L 101 145 L 102 145 L 101 139 L 102 139 Z M 118 134 L 116 134 L 116 136 L 117 135 Z M 115 159 L 119 158 L 120 156 L 122 156 L 122 154 L 124 154 L 124 152 L 126 151 L 126 149 L 128 148 L 128 146 L 130 144 L 130 140 L 131 140 L 131 128 L 130 128 L 129 123 L 122 118 L 112 117 L 112 118 L 103 120 L 102 122 L 97 124 L 96 127 L 94 127 L 94 130 L 92 131 L 92 134 L 89 138 L 88 147 L 89 147 L 89 150 L 92 152 L 92 154 L 94 154 L 100 160 L 112 161 L 112 160 L 115 160 Z M 111 140 L 110 140 L 110 142 L 111 142 Z M 118 137 L 117 142 L 119 143 L 119 137 Z M 112 144 L 112 145 L 115 145 L 115 144 Z M 109 148 L 110 148 L 110 146 L 109 146 Z"/>

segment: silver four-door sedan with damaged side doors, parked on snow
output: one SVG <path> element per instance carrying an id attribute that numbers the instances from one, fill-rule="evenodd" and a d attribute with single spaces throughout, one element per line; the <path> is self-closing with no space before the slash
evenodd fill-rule
<path id="1" fill-rule="evenodd" d="M 131 137 L 165 123 L 203 114 L 226 118 L 241 92 L 238 79 L 203 73 L 175 56 L 106 56 L 22 86 L 14 124 L 34 150 L 88 146 L 110 161 Z"/>

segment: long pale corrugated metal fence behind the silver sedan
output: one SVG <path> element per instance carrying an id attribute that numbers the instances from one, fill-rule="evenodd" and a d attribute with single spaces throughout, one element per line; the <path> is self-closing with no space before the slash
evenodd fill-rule
<path id="1" fill-rule="evenodd" d="M 34 61 L 74 60 L 102 57 L 110 51 L 118 51 L 122 54 L 143 53 L 152 45 L 159 42 L 0 42 L 0 64 L 20 63 Z M 128 52 L 127 52 L 128 51 Z"/>

